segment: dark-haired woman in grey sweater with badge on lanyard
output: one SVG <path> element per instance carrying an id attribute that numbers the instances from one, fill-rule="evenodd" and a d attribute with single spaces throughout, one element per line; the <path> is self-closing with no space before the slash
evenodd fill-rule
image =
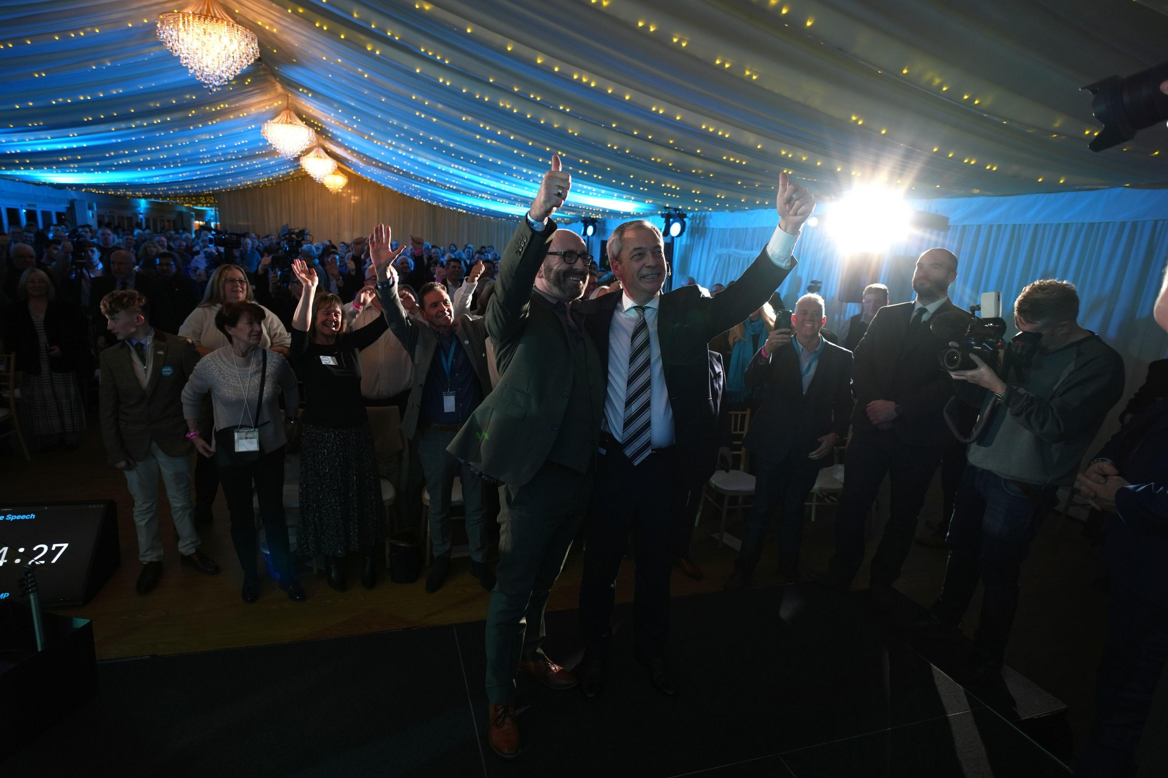
<path id="1" fill-rule="evenodd" d="M 203 457 L 218 457 L 221 460 L 220 482 L 231 514 L 231 541 L 243 567 L 243 602 L 253 603 L 259 597 L 256 527 L 251 507 L 255 487 L 272 565 L 280 575 L 280 589 L 287 592 L 290 599 L 300 603 L 305 593 L 294 577 L 296 565 L 290 558 L 288 532 L 284 521 L 284 446 L 287 439 L 277 398 L 283 389 L 285 407 L 297 408 L 299 395 L 296 374 L 287 361 L 260 347 L 265 315 L 264 308 L 255 303 L 228 303 L 220 308 L 215 314 L 215 326 L 227 336 L 229 345 L 199 361 L 182 390 L 182 407 L 190 430 L 187 437 L 193 439 L 195 449 Z M 256 408 L 264 364 L 263 400 Z M 215 409 L 215 430 L 221 431 L 220 436 L 200 436 L 199 404 L 208 394 Z M 230 428 L 239 429 L 232 432 Z M 216 437 L 221 439 L 216 440 Z M 231 452 L 217 451 L 223 445 L 223 438 L 235 452 L 258 451 L 258 459 L 229 464 L 227 460 Z"/>

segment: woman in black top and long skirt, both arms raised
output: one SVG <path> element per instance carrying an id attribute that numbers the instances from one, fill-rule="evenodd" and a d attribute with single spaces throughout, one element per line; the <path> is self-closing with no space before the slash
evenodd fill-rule
<path id="1" fill-rule="evenodd" d="M 292 317 L 292 367 L 304 382 L 300 439 L 300 550 L 328 562 L 328 585 L 345 591 L 340 558 L 364 553 L 361 585 L 376 583 L 374 547 L 385 540 L 385 508 L 373 429 L 361 397 L 361 350 L 389 328 L 384 315 L 346 332 L 341 299 L 318 292 L 303 259 L 292 272 L 304 293 Z"/>

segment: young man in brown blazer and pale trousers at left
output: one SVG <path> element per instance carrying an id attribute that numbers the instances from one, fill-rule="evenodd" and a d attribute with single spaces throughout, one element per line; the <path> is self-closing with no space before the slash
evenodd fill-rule
<path id="1" fill-rule="evenodd" d="M 138 560 L 137 590 L 145 595 L 162 576 L 162 542 L 158 536 L 158 477 L 179 533 L 183 564 L 216 574 L 218 567 L 199 550 L 190 517 L 190 451 L 182 415 L 182 388 L 195 369 L 199 352 L 186 338 L 150 325 L 150 303 L 141 292 L 110 292 L 100 301 L 118 343 L 102 352 L 102 438 L 109 464 L 123 471 L 134 498 Z"/>

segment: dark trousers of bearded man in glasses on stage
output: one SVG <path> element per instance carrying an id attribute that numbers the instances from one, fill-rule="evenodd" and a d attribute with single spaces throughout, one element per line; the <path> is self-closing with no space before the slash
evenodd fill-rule
<path id="1" fill-rule="evenodd" d="M 487 609 L 487 699 L 508 704 L 520 661 L 543 653 L 543 612 L 592 495 L 592 467 L 544 464 L 522 486 L 499 487 L 499 565 Z M 530 627 L 530 628 L 528 628 Z"/>

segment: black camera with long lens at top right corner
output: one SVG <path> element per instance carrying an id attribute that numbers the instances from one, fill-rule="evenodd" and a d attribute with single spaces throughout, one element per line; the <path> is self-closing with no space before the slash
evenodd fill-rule
<path id="1" fill-rule="evenodd" d="M 1168 62 L 1141 70 L 1134 76 L 1107 76 L 1084 86 L 1094 97 L 1091 112 L 1103 130 L 1091 139 L 1091 151 L 1100 152 L 1131 140 L 1145 127 L 1168 119 L 1168 95 L 1160 84 L 1168 81 Z"/>

